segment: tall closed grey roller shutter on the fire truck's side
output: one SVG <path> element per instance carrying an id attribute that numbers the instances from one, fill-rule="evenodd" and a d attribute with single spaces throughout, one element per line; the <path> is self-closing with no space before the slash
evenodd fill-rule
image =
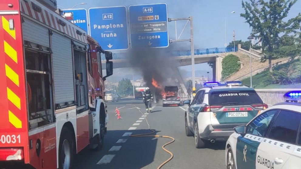
<path id="1" fill-rule="evenodd" d="M 54 31 L 52 33 L 55 103 L 75 101 L 71 39 Z"/>

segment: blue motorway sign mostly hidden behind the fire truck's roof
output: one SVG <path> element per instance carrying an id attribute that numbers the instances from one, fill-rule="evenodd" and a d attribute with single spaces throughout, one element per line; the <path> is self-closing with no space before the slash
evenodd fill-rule
<path id="1" fill-rule="evenodd" d="M 88 33 L 88 19 L 86 9 L 63 9 L 62 11 L 72 12 L 73 19 L 70 19 L 69 21 Z"/>

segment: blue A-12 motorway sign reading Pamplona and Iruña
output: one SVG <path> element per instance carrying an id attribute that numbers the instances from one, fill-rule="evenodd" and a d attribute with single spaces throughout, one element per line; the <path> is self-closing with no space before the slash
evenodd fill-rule
<path id="1" fill-rule="evenodd" d="M 100 7 L 89 9 L 90 35 L 104 50 L 129 48 L 127 7 Z"/>

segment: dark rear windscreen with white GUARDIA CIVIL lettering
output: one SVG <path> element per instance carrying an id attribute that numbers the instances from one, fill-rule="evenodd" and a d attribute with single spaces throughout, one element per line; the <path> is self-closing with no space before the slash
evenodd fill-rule
<path id="1" fill-rule="evenodd" d="M 214 91 L 209 94 L 210 105 L 251 105 L 263 104 L 256 91 Z"/>

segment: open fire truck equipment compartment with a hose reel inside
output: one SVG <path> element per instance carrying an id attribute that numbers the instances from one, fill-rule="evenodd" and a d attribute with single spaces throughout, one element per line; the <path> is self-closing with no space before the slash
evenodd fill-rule
<path id="1" fill-rule="evenodd" d="M 50 55 L 25 50 L 29 128 L 54 122 Z"/>

